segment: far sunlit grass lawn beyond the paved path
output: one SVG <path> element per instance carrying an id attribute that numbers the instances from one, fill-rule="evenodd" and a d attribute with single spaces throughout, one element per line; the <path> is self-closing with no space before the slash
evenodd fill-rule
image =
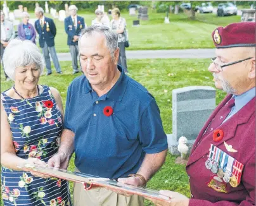
<path id="1" fill-rule="evenodd" d="M 94 13 L 85 11 L 78 11 L 78 15 L 84 17 L 88 26 L 95 18 Z M 127 21 L 129 41 L 131 42 L 129 50 L 213 48 L 212 31 L 218 26 L 239 22 L 241 18 L 240 16 L 217 17 L 211 13 L 196 13 L 196 20 L 191 21 L 184 13 L 179 13 L 179 15 L 170 14 L 170 24 L 165 24 L 163 23 L 164 13 L 149 11 L 149 21 L 141 21 L 140 27 L 132 27 L 132 21 L 137 20 L 137 17 L 129 16 L 129 13 L 121 15 Z M 46 16 L 51 18 L 50 15 Z M 30 13 L 30 18 L 35 18 L 34 13 Z M 56 51 L 69 52 L 64 22 L 58 19 L 55 19 L 54 22 L 57 28 Z"/>

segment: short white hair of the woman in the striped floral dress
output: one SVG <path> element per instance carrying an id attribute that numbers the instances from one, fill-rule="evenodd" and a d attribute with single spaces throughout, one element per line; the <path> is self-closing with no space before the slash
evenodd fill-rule
<path id="1" fill-rule="evenodd" d="M 44 58 L 37 45 L 30 40 L 11 40 L 4 50 L 3 64 L 4 71 L 11 80 L 15 80 L 15 69 L 19 66 L 35 64 L 40 69 L 40 74 L 44 70 Z"/>

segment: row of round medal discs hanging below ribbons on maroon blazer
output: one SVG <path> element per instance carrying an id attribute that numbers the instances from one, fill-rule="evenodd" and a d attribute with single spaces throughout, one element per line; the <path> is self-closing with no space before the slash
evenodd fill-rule
<path id="1" fill-rule="evenodd" d="M 233 187 L 238 186 L 238 181 L 235 177 L 231 177 L 231 172 L 226 170 L 224 173 L 223 169 L 218 167 L 217 162 L 213 162 L 210 157 L 205 162 L 205 167 L 210 169 L 212 173 L 217 174 L 217 176 L 222 178 L 225 183 L 229 183 Z"/>

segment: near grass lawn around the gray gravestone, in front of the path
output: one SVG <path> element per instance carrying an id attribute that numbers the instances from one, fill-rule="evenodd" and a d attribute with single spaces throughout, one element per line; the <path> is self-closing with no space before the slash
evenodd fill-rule
<path id="1" fill-rule="evenodd" d="M 40 83 L 57 88 L 65 105 L 68 85 L 78 75 L 72 75 L 71 62 L 60 63 L 64 74 L 56 75 L 53 73 L 51 76 L 41 76 Z M 172 89 L 192 85 L 214 87 L 212 75 L 207 70 L 210 63 L 209 59 L 129 59 L 127 63 L 130 76 L 144 85 L 157 100 L 165 133 L 172 133 Z M 10 88 L 12 84 L 12 82 L 4 82 L 4 75 L 1 70 L 1 92 Z M 224 92 L 218 90 L 216 104 L 219 104 L 224 96 Z M 188 176 L 185 166 L 176 165 L 175 159 L 174 155 L 169 154 L 165 164 L 148 182 L 147 187 L 155 190 L 179 191 L 189 197 Z M 68 169 L 74 170 L 74 157 L 72 157 Z M 72 183 L 70 186 L 73 190 Z M 145 205 L 153 204 L 146 201 Z"/>

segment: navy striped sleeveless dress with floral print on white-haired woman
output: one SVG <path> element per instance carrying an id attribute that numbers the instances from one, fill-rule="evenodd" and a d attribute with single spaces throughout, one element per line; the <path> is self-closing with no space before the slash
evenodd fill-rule
<path id="1" fill-rule="evenodd" d="M 1 94 L 8 116 L 13 146 L 22 159 L 36 157 L 48 162 L 57 151 L 62 130 L 61 113 L 51 90 L 43 85 L 42 94 L 30 99 L 12 99 Z M 31 173 L 1 168 L 4 205 L 72 205 L 68 181 L 38 178 Z"/>

